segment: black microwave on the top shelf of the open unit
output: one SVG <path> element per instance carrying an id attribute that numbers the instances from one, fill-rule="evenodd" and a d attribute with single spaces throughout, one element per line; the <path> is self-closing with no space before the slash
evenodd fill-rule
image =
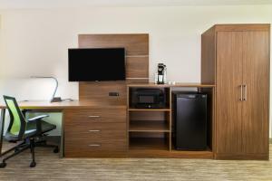
<path id="1" fill-rule="evenodd" d="M 165 93 L 160 89 L 137 89 L 132 91 L 131 107 L 142 109 L 165 108 Z"/>

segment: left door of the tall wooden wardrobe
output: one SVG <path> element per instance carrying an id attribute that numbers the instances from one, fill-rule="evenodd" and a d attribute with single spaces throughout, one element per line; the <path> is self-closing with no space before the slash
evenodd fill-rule
<path id="1" fill-rule="evenodd" d="M 218 154 L 241 153 L 242 32 L 217 33 L 216 143 Z"/>

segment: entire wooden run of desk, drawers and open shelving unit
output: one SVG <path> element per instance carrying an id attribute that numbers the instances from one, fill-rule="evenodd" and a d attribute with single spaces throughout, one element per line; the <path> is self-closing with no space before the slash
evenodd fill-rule
<path id="1" fill-rule="evenodd" d="M 89 100 L 63 102 L 23 101 L 21 109 L 61 112 L 61 157 L 201 157 L 213 158 L 214 150 L 214 85 L 176 83 L 128 84 L 121 97 L 109 97 L 109 91 L 97 90 L 97 97 Z M 166 91 L 166 109 L 139 110 L 130 108 L 130 92 L 137 88 L 159 88 Z M 172 148 L 171 92 L 176 88 L 196 88 L 209 94 L 209 148 L 204 151 L 176 151 Z M 124 97 L 126 95 L 126 97 Z M 125 99 L 123 99 L 123 97 Z M 101 99 L 103 98 L 103 99 Z M 91 101 L 92 100 L 92 101 Z M 123 100 L 126 100 L 125 102 Z M 104 103 L 102 103 L 104 102 Z M 5 106 L 2 109 L 1 136 L 4 128 Z M 136 120 L 136 121 L 133 121 Z M 137 122 L 137 120 L 142 120 Z M 156 120 L 156 121 L 146 121 Z M 135 124 L 134 124 L 135 123 Z M 141 124 L 140 124 L 141 123 Z M 159 123 L 159 124 L 157 124 Z M 151 137 L 150 137 L 151 136 Z M 161 136 L 161 137 L 160 137 Z M 2 137 L 1 137 L 2 143 Z M 2 144 L 0 144 L 0 147 Z"/>

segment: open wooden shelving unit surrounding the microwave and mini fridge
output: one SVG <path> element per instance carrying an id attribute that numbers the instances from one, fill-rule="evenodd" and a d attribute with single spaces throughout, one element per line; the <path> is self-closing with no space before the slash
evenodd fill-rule
<path id="1" fill-rule="evenodd" d="M 199 157 L 212 158 L 211 149 L 203 151 L 175 150 L 172 144 L 172 102 L 171 92 L 176 88 L 196 88 L 196 90 L 209 93 L 213 96 L 214 85 L 189 83 L 176 85 L 157 85 L 154 83 L 133 83 L 128 85 L 128 140 L 129 157 Z M 138 89 L 164 90 L 167 97 L 166 108 L 162 109 L 137 109 L 130 102 L 131 91 Z M 212 99 L 211 99 L 212 101 Z M 211 107 L 212 109 L 212 107 Z M 212 115 L 212 110 L 210 110 Z M 211 117 L 212 118 L 212 117 Z M 212 124 L 209 128 L 212 131 Z M 211 138 L 211 133 L 209 138 Z M 212 140 L 210 140 L 212 144 Z"/>

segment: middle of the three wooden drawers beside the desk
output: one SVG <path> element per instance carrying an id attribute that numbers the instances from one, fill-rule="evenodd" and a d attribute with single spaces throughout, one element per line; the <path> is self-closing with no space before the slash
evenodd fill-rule
<path id="1" fill-rule="evenodd" d="M 67 125 L 64 129 L 65 140 L 83 138 L 88 140 L 125 139 L 125 123 L 88 122 L 85 125 Z"/>

